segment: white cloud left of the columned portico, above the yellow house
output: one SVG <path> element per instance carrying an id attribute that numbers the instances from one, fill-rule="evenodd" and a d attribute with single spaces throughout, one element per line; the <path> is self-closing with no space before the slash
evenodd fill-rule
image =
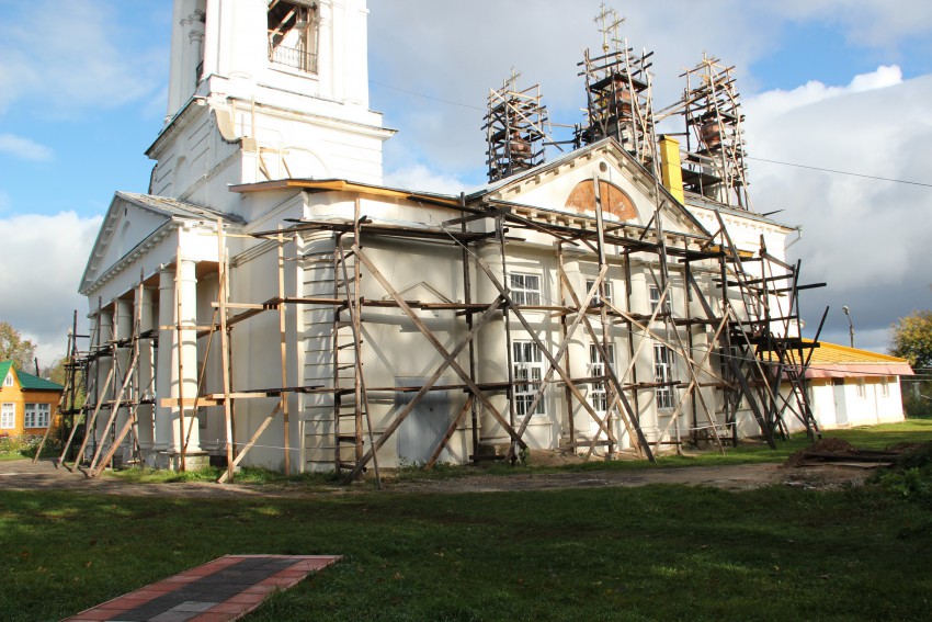
<path id="1" fill-rule="evenodd" d="M 0 318 L 38 344 L 41 365 L 64 354 L 73 310 L 79 323 L 87 313 L 77 289 L 100 224 L 73 212 L 0 218 Z"/>

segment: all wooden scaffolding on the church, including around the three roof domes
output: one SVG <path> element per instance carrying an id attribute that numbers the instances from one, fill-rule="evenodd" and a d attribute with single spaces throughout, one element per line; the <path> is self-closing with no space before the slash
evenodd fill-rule
<path id="1" fill-rule="evenodd" d="M 273 422 L 281 422 L 281 444 L 265 442 L 265 446 L 282 451 L 286 473 L 314 463 L 350 482 L 372 465 L 380 482 L 379 450 L 419 407 L 434 404 L 431 400 L 441 394 L 462 399 L 436 412 L 440 426 L 425 441 L 430 446 L 423 448 L 429 450 L 425 468 L 442 460 L 457 432 L 468 445 L 463 462 L 515 460 L 528 446 L 528 427 L 545 399 L 561 402 L 556 422 L 560 449 L 587 460 L 630 454 L 653 461 L 666 446 L 679 450 L 687 442 L 709 442 L 725 451 L 726 442 L 735 444 L 739 436 L 754 431 L 739 429 L 743 420 L 753 421 L 772 448 L 788 436 L 789 417 L 817 437 L 806 371 L 821 327 L 815 341 L 802 339 L 799 293 L 822 284 L 800 284 L 800 264 L 771 255 L 763 237 L 752 251 L 739 249 L 719 210 L 750 208 L 742 117 L 731 68 L 705 58 L 683 75 L 686 93 L 673 106 L 686 118 L 684 184 L 711 199 L 704 207 L 714 213 L 719 227 L 712 235 L 670 231 L 662 214 L 675 201 L 668 200 L 657 174 L 655 123 L 662 113 L 655 116 L 652 111 L 651 54 L 635 55 L 618 36 L 622 20 L 604 4 L 596 21 L 602 24 L 602 55 L 593 58 L 587 50 L 580 64 L 588 117 L 576 140 L 590 149 L 612 149 L 611 142 L 599 143 L 613 138 L 644 167 L 646 178 L 652 176 L 643 184 L 655 202 L 647 224 L 613 212 L 606 194 L 612 186 L 599 173 L 591 189 L 581 193 L 591 197 L 591 208 L 578 213 L 509 202 L 489 192 L 470 201 L 465 195 L 459 201 L 409 195 L 406 200 L 417 205 L 420 220 L 386 220 L 363 214 L 363 202 L 379 192 L 356 188 L 352 205 L 343 203 L 336 214 L 285 220 L 274 230 L 243 234 L 218 219 L 211 234 L 217 242 L 217 295 L 208 323 L 183 319 L 179 249 L 173 317 L 160 317 L 160 326 L 144 329 L 150 323 L 144 321 L 141 305 L 128 316 L 126 301 L 122 312 L 115 301 L 107 307 L 113 326 L 102 325 L 98 314 L 87 352 L 78 352 L 69 341 L 69 369 L 83 372 L 88 396 L 76 408 L 75 392 L 66 392 L 71 403 L 62 412 L 70 414 L 72 422 L 79 417 L 87 421 L 72 470 L 83 467 L 89 477 L 95 476 L 115 464 L 121 449 L 124 463 L 143 463 L 147 450 L 140 437 L 151 432 L 140 428 L 154 427 L 155 410 L 162 407 L 178 410 L 178 468 L 187 466 L 198 419 L 221 417 L 223 455 L 214 456 L 226 466 L 220 482 L 235 477 L 236 467 L 261 446 L 260 439 Z M 492 182 L 544 162 L 547 112 L 539 88 L 519 90 L 518 77 L 513 71 L 500 90 L 489 94 L 484 129 Z M 250 260 L 274 253 L 274 272 L 249 275 L 275 283 L 273 297 L 231 295 L 238 269 L 237 258 L 229 257 L 231 237 L 242 238 L 248 247 L 242 255 L 250 255 Z M 527 294 L 523 276 L 513 270 L 527 238 L 538 240 L 536 249 L 552 253 L 546 261 L 556 282 L 556 299 Z M 386 248 L 412 256 L 434 249 L 451 268 L 445 285 L 462 295 L 440 296 L 437 302 L 412 299 L 408 284 L 393 282 L 395 271 L 379 260 Z M 571 273 L 570 262 L 578 264 L 578 273 Z M 289 285 L 286 276 L 293 267 L 314 276 Z M 151 279 L 140 275 L 137 302 L 144 287 L 154 285 Z M 636 299 L 644 295 L 644 287 L 640 294 L 636 291 L 638 279 L 650 285 L 647 305 Z M 623 291 L 613 291 L 612 284 Z M 100 301 L 98 308 L 103 310 Z M 261 330 L 263 338 L 277 332 L 281 381 L 243 386 L 234 372 L 253 361 L 240 343 L 249 342 L 251 324 L 264 314 L 277 315 L 274 329 L 266 323 Z M 310 316 L 312 320 L 306 319 Z M 557 327 L 542 328 L 539 317 L 554 319 Z M 433 358 L 437 364 L 417 382 L 397 382 L 391 370 L 404 369 L 396 363 L 411 352 L 399 348 L 375 355 L 370 336 L 379 323 L 404 325 L 419 336 L 419 354 L 430 352 L 424 359 Z M 240 333 L 242 339 L 236 337 Z M 496 348 L 489 348 L 490 340 L 480 348 L 480 336 L 491 333 Z M 177 369 L 169 371 L 179 378 L 177 395 L 157 396 L 155 375 L 145 372 L 157 358 L 160 336 L 162 355 L 174 350 Z M 322 361 L 316 375 L 295 372 L 294 340 Z M 196 383 L 185 387 L 190 373 L 182 349 L 192 341 L 203 358 L 197 361 Z M 575 360 L 579 342 L 589 346 L 588 366 Z M 626 357 L 620 355 L 622 348 Z M 270 357 L 262 361 L 266 367 L 273 363 Z M 480 371 L 482 360 L 496 362 L 495 373 Z M 652 362 L 652 373 L 651 363 L 645 361 Z M 588 373 L 580 375 L 581 367 Z M 208 372 L 219 381 L 206 382 Z M 383 382 L 385 377 L 396 382 Z M 315 400 L 314 406 L 306 399 Z M 391 399 L 394 404 L 386 406 Z M 651 403 L 661 402 L 663 414 L 648 428 L 644 414 Z M 257 408 L 248 408 L 243 415 L 237 408 L 243 403 L 261 403 L 268 410 L 257 417 Z M 323 440 L 309 448 L 305 426 L 311 410 Z M 296 415 L 299 448 L 292 446 Z M 382 418 L 376 420 L 377 416 Z M 490 422 L 488 428 L 484 421 Z M 72 437 L 77 429 L 72 425 Z"/>

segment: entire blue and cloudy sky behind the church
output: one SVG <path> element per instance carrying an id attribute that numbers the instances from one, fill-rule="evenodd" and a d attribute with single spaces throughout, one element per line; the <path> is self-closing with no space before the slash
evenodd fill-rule
<path id="1" fill-rule="evenodd" d="M 64 350 L 71 309 L 84 313 L 78 279 L 113 192 L 148 189 L 152 162 L 144 151 L 166 114 L 171 4 L 0 0 L 0 231 L 12 240 L 0 320 L 42 343 L 44 363 Z M 481 109 L 511 67 L 525 84 L 541 83 L 553 121 L 579 121 L 576 63 L 600 42 L 598 4 L 573 2 L 568 11 L 566 2 L 539 0 L 528 15 L 518 0 L 370 0 L 372 106 L 399 131 L 386 146 L 386 182 L 451 193 L 481 184 Z M 656 53 L 658 106 L 679 97 L 679 73 L 707 50 L 737 68 L 752 157 L 929 182 L 932 7 L 709 0 L 700 14 L 694 2 L 672 0 L 616 8 L 629 42 Z M 812 323 L 832 306 L 829 339 L 846 341 L 844 304 L 859 346 L 875 350 L 896 317 L 932 307 L 923 253 L 932 189 L 761 161 L 752 161 L 751 181 L 759 211 L 782 208 L 777 218 L 804 226 L 792 253 L 811 281 L 830 283 L 804 312 Z"/>

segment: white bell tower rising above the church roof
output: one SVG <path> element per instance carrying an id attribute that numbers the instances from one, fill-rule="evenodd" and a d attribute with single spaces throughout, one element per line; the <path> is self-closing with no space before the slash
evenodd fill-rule
<path id="1" fill-rule="evenodd" d="M 174 0 L 150 191 L 196 202 L 215 184 L 382 183 L 393 132 L 368 109 L 367 16 L 366 0 Z"/>

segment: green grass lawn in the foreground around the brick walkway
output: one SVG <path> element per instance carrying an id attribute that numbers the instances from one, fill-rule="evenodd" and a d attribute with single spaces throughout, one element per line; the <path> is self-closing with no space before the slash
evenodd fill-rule
<path id="1" fill-rule="evenodd" d="M 838 436 L 895 444 L 932 438 L 932 426 Z M 932 610 L 928 504 L 875 487 L 648 486 L 236 500 L 0 491 L 0 618 L 57 620 L 249 553 L 344 556 L 250 621 L 920 620 Z"/>

